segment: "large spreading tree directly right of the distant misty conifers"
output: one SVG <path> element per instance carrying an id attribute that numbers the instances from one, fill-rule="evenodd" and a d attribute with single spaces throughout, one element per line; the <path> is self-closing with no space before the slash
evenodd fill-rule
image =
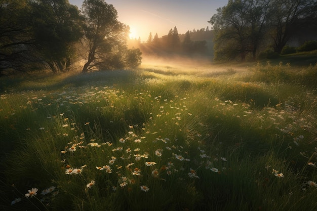
<path id="1" fill-rule="evenodd" d="M 210 19 L 215 31 L 215 59 L 245 60 L 251 53 L 256 57 L 265 23 L 268 19 L 269 0 L 229 0 L 217 9 Z"/>

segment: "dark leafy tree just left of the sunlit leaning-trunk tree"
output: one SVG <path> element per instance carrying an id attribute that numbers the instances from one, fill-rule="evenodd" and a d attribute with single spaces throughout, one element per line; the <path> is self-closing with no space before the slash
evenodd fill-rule
<path id="1" fill-rule="evenodd" d="M 69 70 L 74 44 L 82 37 L 81 16 L 67 0 L 37 0 L 32 4 L 32 32 L 37 58 L 53 72 Z"/>

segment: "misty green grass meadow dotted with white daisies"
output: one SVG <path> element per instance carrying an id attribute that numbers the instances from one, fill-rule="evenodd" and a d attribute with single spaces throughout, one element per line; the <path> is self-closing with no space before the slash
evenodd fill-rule
<path id="1" fill-rule="evenodd" d="M 317 210 L 316 54 L 3 78 L 0 208 Z"/>

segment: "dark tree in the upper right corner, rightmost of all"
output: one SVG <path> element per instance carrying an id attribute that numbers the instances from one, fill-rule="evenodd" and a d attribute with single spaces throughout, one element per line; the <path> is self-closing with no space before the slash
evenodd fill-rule
<path id="1" fill-rule="evenodd" d="M 316 1 L 313 0 L 274 0 L 270 8 L 270 35 L 274 41 L 274 51 L 279 54 L 301 27 L 316 23 Z"/>

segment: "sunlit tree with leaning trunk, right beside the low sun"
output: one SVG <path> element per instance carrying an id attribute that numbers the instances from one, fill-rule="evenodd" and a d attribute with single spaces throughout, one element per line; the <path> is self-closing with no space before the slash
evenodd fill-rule
<path id="1" fill-rule="evenodd" d="M 83 44 L 88 49 L 83 72 L 140 64 L 141 52 L 127 49 L 129 27 L 117 20 L 112 5 L 103 0 L 85 0 L 82 15 L 85 18 Z"/>

